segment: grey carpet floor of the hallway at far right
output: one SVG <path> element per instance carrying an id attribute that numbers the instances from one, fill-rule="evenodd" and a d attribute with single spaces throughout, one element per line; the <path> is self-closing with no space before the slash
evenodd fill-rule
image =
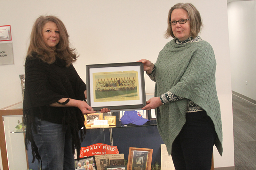
<path id="1" fill-rule="evenodd" d="M 235 170 L 256 170 L 256 105 L 234 94 Z"/>

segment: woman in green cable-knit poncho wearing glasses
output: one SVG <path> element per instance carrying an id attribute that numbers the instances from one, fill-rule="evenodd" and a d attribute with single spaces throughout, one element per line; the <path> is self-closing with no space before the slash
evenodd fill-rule
<path id="1" fill-rule="evenodd" d="M 212 46 L 198 33 L 202 19 L 193 4 L 175 4 L 156 63 L 139 60 L 156 82 L 155 97 L 142 109 L 156 109 L 159 134 L 176 170 L 210 170 L 213 145 L 222 155 L 220 103 Z"/>

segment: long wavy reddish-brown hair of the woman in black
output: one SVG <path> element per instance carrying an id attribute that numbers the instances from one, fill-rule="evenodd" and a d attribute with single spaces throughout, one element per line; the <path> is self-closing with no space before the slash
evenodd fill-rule
<path id="1" fill-rule="evenodd" d="M 48 22 L 54 22 L 60 32 L 60 42 L 55 47 L 49 47 L 43 39 L 43 28 Z M 43 62 L 52 64 L 56 57 L 66 62 L 66 67 L 76 61 L 76 49 L 69 47 L 69 35 L 63 22 L 55 16 L 40 16 L 36 19 L 30 35 L 30 43 L 28 47 L 27 57 L 33 57 L 32 53 L 36 53 Z"/>

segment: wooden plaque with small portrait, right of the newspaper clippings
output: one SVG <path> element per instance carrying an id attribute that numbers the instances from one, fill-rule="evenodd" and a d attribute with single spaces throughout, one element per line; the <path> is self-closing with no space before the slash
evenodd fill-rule
<path id="1" fill-rule="evenodd" d="M 132 148 L 129 149 L 127 170 L 150 170 L 153 149 Z"/>

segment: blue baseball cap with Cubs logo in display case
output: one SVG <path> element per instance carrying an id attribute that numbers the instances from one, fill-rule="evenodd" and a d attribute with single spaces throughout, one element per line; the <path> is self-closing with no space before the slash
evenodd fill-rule
<path id="1" fill-rule="evenodd" d="M 124 115 L 121 117 L 121 124 L 126 125 L 129 123 L 135 125 L 143 125 L 146 122 L 150 122 L 148 119 L 144 119 L 139 112 L 132 110 L 132 111 L 125 111 Z"/>

